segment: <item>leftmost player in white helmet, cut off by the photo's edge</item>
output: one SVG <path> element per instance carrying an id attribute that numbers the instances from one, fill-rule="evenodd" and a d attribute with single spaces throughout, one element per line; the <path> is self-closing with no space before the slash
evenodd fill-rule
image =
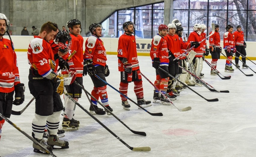
<path id="1" fill-rule="evenodd" d="M 25 99 L 25 87 L 20 83 L 20 74 L 17 66 L 17 57 L 14 51 L 14 45 L 9 39 L 3 36 L 8 33 L 9 20 L 5 14 L 0 13 L 0 46 L 1 46 L 1 72 L 0 72 L 0 113 L 6 118 L 11 117 L 12 105 L 21 105 Z M 15 92 L 15 99 L 13 95 Z M 0 139 L 2 126 L 5 120 L 0 117 Z"/>

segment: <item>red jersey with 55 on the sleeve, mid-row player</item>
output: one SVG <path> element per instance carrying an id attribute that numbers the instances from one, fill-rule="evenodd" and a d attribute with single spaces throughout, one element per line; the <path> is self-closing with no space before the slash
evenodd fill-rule
<path id="1" fill-rule="evenodd" d="M 123 33 L 118 40 L 117 57 L 127 59 L 127 62 L 132 64 L 132 70 L 139 69 L 139 61 L 137 55 L 135 36 Z M 118 71 L 124 71 L 124 66 L 121 60 L 118 59 Z"/>

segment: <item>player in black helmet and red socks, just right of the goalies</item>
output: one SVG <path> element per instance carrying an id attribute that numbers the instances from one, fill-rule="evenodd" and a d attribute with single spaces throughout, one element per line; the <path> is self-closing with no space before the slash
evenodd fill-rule
<path id="1" fill-rule="evenodd" d="M 221 36 L 219 33 L 220 26 L 215 24 L 215 32 L 212 36 L 209 37 L 209 48 L 210 53 L 212 56 L 212 66 L 216 69 L 217 68 L 217 61 L 220 59 L 221 54 Z M 211 34 L 212 32 L 210 32 Z M 216 75 L 216 72 L 211 68 L 211 75 Z"/>

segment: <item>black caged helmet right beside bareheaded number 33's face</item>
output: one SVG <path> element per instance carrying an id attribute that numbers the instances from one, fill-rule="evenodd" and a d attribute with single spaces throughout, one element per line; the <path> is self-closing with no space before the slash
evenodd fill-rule
<path id="1" fill-rule="evenodd" d="M 71 48 L 71 36 L 68 32 L 59 31 L 56 35 L 55 42 L 58 42 L 59 51 L 62 53 L 68 53 Z"/>

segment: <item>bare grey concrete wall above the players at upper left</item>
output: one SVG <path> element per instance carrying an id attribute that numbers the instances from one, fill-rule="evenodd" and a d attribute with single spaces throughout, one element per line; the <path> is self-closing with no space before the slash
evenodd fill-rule
<path id="1" fill-rule="evenodd" d="M 41 26 L 51 21 L 59 28 L 70 19 L 79 19 L 82 23 L 82 36 L 91 23 L 101 22 L 114 10 L 138 5 L 146 5 L 164 0 L 0 0 L 0 13 L 10 20 L 13 35 L 20 35 L 24 26 L 31 34 L 32 26 L 40 31 Z M 165 23 L 169 23 L 172 0 L 165 0 Z"/>

